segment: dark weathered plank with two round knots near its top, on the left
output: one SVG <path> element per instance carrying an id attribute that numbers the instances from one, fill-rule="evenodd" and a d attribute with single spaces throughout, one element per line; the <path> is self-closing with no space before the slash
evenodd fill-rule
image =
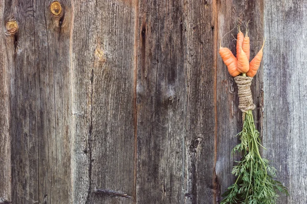
<path id="1" fill-rule="evenodd" d="M 5 1 L 18 23 L 6 43 L 12 203 L 70 200 L 71 6 L 54 16 L 50 3 Z"/>

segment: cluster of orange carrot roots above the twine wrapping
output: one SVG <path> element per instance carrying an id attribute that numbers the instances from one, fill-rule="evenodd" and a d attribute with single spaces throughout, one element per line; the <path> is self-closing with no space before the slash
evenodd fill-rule
<path id="1" fill-rule="evenodd" d="M 250 60 L 250 39 L 248 37 L 248 31 L 245 36 L 239 29 L 237 35 L 236 44 L 236 57 L 232 54 L 231 50 L 227 47 L 222 47 L 220 42 L 220 50 L 218 51 L 228 68 L 228 72 L 232 77 L 236 77 L 240 73 L 248 75 L 249 77 L 254 77 L 260 66 L 260 62 L 263 55 L 264 44 L 262 44 L 261 49 L 254 57 L 254 59 L 249 63 Z M 222 41 L 222 40 L 221 40 Z"/>

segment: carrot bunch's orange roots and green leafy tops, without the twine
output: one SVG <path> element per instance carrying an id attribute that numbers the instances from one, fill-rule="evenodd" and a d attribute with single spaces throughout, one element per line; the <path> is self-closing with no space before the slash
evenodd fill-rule
<path id="1" fill-rule="evenodd" d="M 236 77 L 241 74 L 243 77 L 254 77 L 260 66 L 262 58 L 261 49 L 249 62 L 250 39 L 238 29 L 236 57 L 227 47 L 220 44 L 220 55 L 227 65 L 230 75 Z M 221 40 L 222 41 L 222 40 Z M 264 42 L 265 43 L 265 42 Z M 246 77 L 246 78 L 248 78 Z M 288 194 L 286 187 L 276 181 L 276 169 L 269 165 L 267 159 L 261 158 L 259 148 L 263 147 L 260 141 L 260 134 L 255 127 L 252 110 L 243 113 L 243 130 L 237 134 L 241 143 L 233 148 L 234 152 L 240 152 L 242 159 L 237 161 L 232 174 L 237 176 L 236 181 L 223 194 L 221 204 L 275 204 L 278 198 L 278 191 Z"/>

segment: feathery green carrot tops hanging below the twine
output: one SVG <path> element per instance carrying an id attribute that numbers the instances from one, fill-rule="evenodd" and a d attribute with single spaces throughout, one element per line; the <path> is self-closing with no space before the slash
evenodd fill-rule
<path id="1" fill-rule="evenodd" d="M 260 138 L 256 130 L 252 110 L 245 113 L 242 132 L 238 133 L 241 143 L 232 152 L 242 152 L 243 159 L 237 161 L 232 174 L 237 176 L 236 182 L 223 194 L 221 204 L 272 204 L 276 203 L 278 192 L 289 195 L 286 187 L 274 180 L 276 169 L 262 159 L 259 153 Z"/>

